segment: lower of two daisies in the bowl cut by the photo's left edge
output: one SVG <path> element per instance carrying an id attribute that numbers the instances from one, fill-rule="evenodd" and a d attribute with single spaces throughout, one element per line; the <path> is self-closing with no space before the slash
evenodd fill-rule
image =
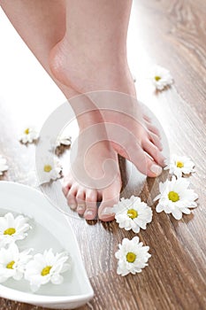
<path id="1" fill-rule="evenodd" d="M 19 252 L 17 244 L 10 244 L 7 249 L 0 250 L 0 283 L 9 278 L 14 280 L 22 279 L 27 262 L 31 260 L 29 253 L 32 249 Z"/>

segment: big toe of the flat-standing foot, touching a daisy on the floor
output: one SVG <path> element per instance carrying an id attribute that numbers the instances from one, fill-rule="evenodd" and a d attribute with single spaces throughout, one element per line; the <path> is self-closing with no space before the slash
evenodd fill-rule
<path id="1" fill-rule="evenodd" d="M 121 182 L 114 182 L 109 188 L 103 190 L 103 200 L 99 207 L 98 215 L 101 221 L 113 221 L 115 214 L 112 207 L 119 200 Z"/>

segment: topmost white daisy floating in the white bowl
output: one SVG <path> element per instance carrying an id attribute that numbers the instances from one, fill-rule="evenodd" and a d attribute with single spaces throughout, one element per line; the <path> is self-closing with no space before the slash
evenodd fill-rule
<path id="1" fill-rule="evenodd" d="M 27 230 L 31 229 L 27 221 L 27 217 L 18 215 L 14 218 L 12 213 L 0 217 L 0 247 L 24 239 Z"/>

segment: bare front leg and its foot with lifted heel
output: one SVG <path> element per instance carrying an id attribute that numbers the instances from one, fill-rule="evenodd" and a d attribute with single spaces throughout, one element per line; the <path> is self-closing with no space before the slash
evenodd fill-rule
<path id="1" fill-rule="evenodd" d="M 126 99 L 111 92 L 103 99 L 102 94 L 96 94 L 95 105 L 103 109 L 109 140 L 117 137 L 119 143 L 112 143 L 114 150 L 133 161 L 141 173 L 154 177 L 161 174 L 164 157 L 156 128 L 143 119 L 134 100 L 134 81 L 126 56 L 131 4 L 131 0 L 118 0 L 118 5 L 117 0 L 66 1 L 65 36 L 51 50 L 50 68 L 58 81 L 80 93 L 111 90 L 130 95 Z M 115 124 L 117 132 L 108 124 Z M 122 127 L 129 144 L 118 135 Z"/>

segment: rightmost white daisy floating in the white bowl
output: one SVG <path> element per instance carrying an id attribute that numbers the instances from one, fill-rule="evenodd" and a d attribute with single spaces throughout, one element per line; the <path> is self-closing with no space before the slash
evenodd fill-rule
<path id="1" fill-rule="evenodd" d="M 52 249 L 43 254 L 35 254 L 33 260 L 27 263 L 25 279 L 30 282 L 31 290 L 37 291 L 46 283 L 61 284 L 64 281 L 62 273 L 71 268 L 68 253 L 54 254 Z"/>

